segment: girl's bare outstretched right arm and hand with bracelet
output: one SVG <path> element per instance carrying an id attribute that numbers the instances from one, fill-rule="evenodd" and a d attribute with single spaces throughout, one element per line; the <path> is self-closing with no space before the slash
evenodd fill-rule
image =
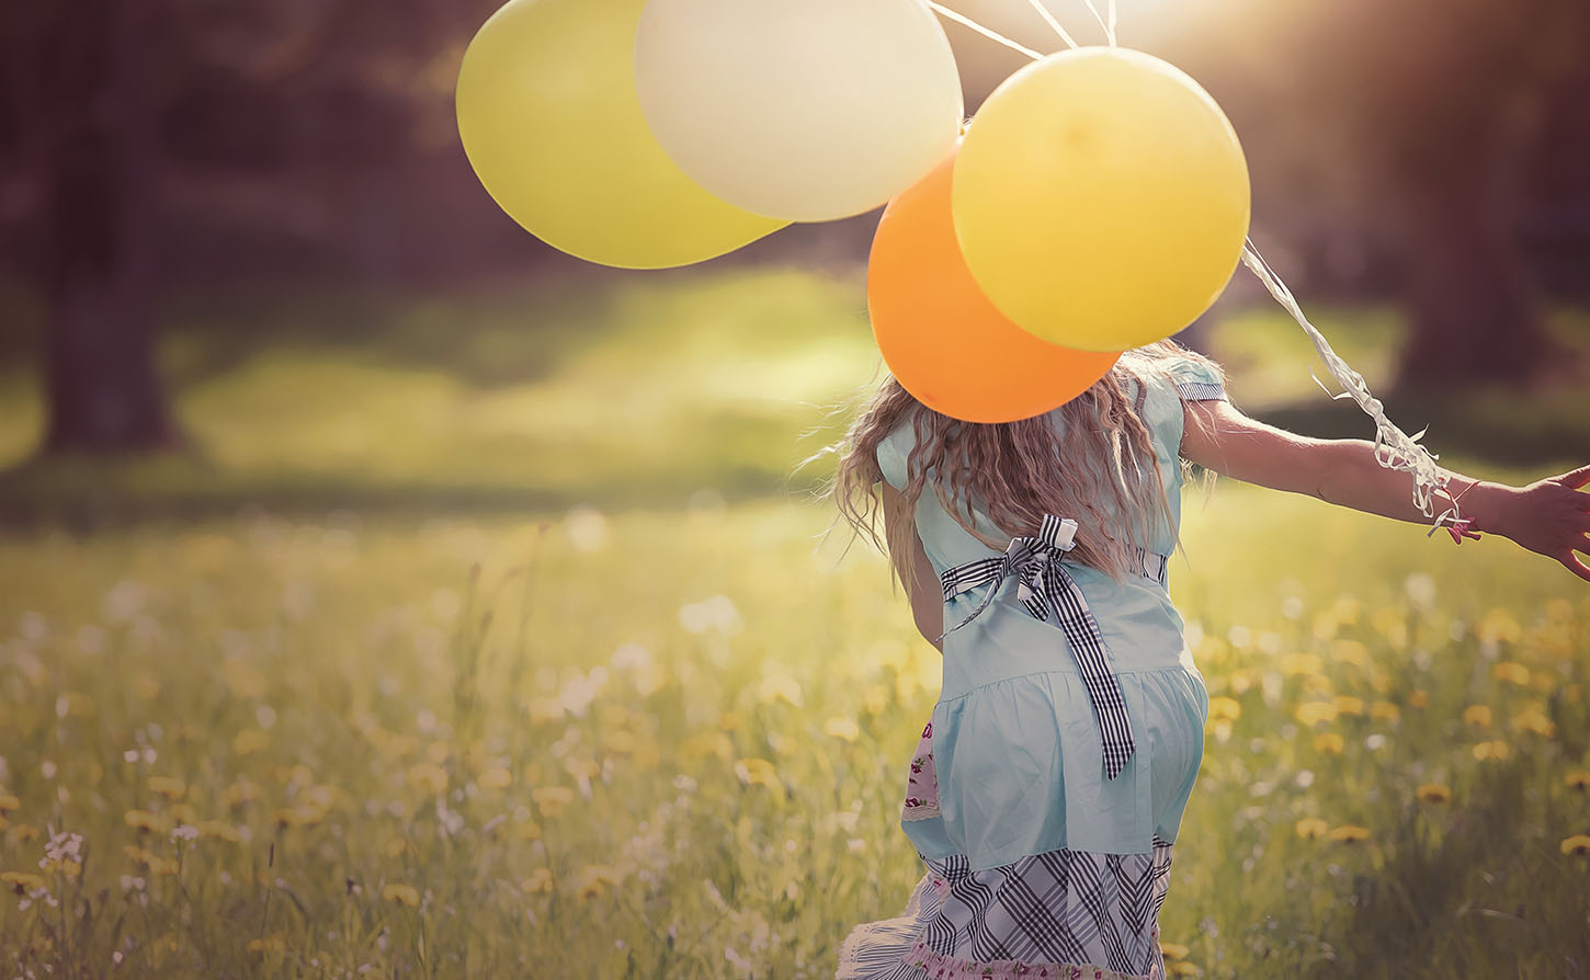
<path id="1" fill-rule="evenodd" d="M 1231 402 L 1186 402 L 1181 456 L 1216 473 L 1318 497 L 1364 513 L 1428 524 L 1414 507 L 1409 473 L 1375 462 L 1374 443 L 1356 438 L 1309 438 L 1245 416 Z M 1499 534 L 1563 564 L 1590 581 L 1590 465 L 1509 486 L 1453 470 L 1450 492 L 1476 532 Z M 1444 500 L 1442 504 L 1447 504 Z"/>

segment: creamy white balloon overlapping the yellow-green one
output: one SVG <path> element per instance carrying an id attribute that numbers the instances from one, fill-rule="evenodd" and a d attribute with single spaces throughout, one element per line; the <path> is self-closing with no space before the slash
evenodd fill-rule
<path id="1" fill-rule="evenodd" d="M 882 206 L 949 152 L 965 108 L 922 0 L 650 0 L 634 81 L 685 173 L 789 221 Z"/>

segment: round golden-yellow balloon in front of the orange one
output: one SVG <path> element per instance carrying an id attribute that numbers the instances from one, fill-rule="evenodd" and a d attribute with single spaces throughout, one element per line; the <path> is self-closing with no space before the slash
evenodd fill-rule
<path id="1" fill-rule="evenodd" d="M 1121 351 L 1208 310 L 1248 233 L 1248 165 L 1196 81 L 1080 48 L 1010 76 L 967 130 L 954 221 L 987 297 L 1053 343 Z"/>

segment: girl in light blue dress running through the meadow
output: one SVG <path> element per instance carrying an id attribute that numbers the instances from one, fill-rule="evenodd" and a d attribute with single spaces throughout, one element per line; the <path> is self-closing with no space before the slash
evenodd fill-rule
<path id="1" fill-rule="evenodd" d="M 840 511 L 887 548 L 944 675 L 902 810 L 925 875 L 902 918 L 851 932 L 840 980 L 1161 977 L 1208 712 L 1165 592 L 1183 461 L 1428 521 L 1410 478 L 1367 442 L 1247 418 L 1169 340 L 1006 424 L 938 415 L 889 378 L 843 451 Z M 1590 581 L 1590 467 L 1526 488 L 1444 473 L 1455 538 L 1510 537 Z"/>

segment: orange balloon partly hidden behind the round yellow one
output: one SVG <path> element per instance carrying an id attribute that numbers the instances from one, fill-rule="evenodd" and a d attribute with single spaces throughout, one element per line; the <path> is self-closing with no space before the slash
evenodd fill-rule
<path id="1" fill-rule="evenodd" d="M 1121 351 L 1076 351 L 1005 318 L 971 278 L 949 210 L 956 152 L 884 210 L 867 270 L 873 337 L 895 380 L 967 422 L 1013 422 L 1070 402 Z"/>

